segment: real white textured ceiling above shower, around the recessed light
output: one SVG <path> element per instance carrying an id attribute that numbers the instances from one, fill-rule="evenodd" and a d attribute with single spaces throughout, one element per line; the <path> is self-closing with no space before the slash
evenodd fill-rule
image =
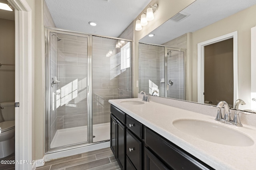
<path id="1" fill-rule="evenodd" d="M 110 37 L 118 37 L 150 1 L 45 0 L 56 27 Z"/>

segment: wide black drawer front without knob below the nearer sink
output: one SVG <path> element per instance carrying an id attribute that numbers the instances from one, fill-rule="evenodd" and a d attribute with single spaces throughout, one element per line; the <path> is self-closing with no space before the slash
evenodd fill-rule
<path id="1" fill-rule="evenodd" d="M 213 169 L 188 152 L 145 127 L 145 146 L 153 150 L 173 169 L 208 170 Z"/>

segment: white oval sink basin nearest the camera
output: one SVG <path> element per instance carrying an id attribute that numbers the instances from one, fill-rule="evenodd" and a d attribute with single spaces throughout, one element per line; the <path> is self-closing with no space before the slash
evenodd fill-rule
<path id="1" fill-rule="evenodd" d="M 213 143 L 237 147 L 249 147 L 254 144 L 254 141 L 243 133 L 217 123 L 192 119 L 179 119 L 172 124 L 174 127 L 188 135 Z"/>

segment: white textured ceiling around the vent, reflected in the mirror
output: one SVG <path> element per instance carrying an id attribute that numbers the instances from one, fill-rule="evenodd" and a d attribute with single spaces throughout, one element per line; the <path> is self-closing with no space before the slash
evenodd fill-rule
<path id="1" fill-rule="evenodd" d="M 256 0 L 196 0 L 182 10 L 190 14 L 180 22 L 168 20 L 145 36 L 144 43 L 163 44 L 188 32 L 194 32 L 256 4 Z M 239 23 L 237 23 L 239 24 Z"/>

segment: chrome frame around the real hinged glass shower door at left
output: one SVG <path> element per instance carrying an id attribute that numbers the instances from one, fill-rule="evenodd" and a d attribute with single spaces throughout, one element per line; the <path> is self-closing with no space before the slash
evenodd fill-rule
<path id="1" fill-rule="evenodd" d="M 72 145 L 50 148 L 50 40 L 51 33 L 62 33 L 87 38 L 87 141 Z M 45 153 L 82 147 L 92 143 L 92 35 L 45 27 Z"/>

